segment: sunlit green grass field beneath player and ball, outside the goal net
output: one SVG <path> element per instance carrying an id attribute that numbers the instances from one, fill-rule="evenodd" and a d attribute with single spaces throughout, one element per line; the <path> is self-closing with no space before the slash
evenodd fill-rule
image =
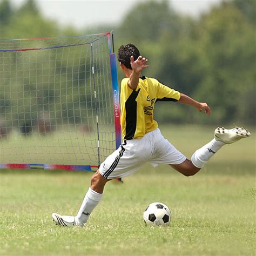
<path id="1" fill-rule="evenodd" d="M 177 127 L 175 127 L 177 128 Z M 165 137 L 190 157 L 213 129 L 183 127 Z M 55 226 L 76 214 L 92 173 L 0 171 L 0 255 L 255 255 L 255 130 L 225 146 L 196 176 L 145 165 L 111 181 L 84 228 Z M 149 227 L 144 208 L 161 201 L 169 227 Z"/>

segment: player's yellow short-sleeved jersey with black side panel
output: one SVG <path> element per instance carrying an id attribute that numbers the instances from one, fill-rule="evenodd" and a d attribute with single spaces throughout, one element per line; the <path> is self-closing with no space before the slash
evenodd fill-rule
<path id="1" fill-rule="evenodd" d="M 154 104 L 157 101 L 177 102 L 180 99 L 180 92 L 154 78 L 140 78 L 135 90 L 129 87 L 128 82 L 129 78 L 122 80 L 120 91 L 123 140 L 142 138 L 158 127 L 153 119 Z"/>

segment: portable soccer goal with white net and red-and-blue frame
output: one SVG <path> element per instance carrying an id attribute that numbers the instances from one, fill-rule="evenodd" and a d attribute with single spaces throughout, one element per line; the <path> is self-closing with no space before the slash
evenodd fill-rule
<path id="1" fill-rule="evenodd" d="M 119 112 L 112 32 L 0 39 L 0 167 L 95 170 Z"/>

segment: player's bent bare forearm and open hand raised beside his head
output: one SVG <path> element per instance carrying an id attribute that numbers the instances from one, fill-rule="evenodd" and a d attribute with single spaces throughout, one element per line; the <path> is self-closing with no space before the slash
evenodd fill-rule
<path id="1" fill-rule="evenodd" d="M 149 66 L 146 65 L 146 63 L 147 59 L 143 58 L 142 56 L 139 56 L 138 59 L 136 59 L 135 61 L 133 56 L 131 56 L 132 72 L 129 77 L 128 85 L 132 90 L 135 90 L 139 83 L 140 72 Z"/>

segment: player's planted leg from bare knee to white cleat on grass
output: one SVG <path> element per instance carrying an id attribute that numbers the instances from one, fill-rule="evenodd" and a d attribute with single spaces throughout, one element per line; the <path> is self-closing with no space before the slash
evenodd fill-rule
<path id="1" fill-rule="evenodd" d="M 99 170 L 93 174 L 91 178 L 91 186 L 85 194 L 84 200 L 77 216 L 60 215 L 58 213 L 52 213 L 52 219 L 56 225 L 59 226 L 84 226 L 89 218 L 92 210 L 97 206 L 100 199 L 102 199 L 104 186 L 111 179 L 105 179 Z"/>

